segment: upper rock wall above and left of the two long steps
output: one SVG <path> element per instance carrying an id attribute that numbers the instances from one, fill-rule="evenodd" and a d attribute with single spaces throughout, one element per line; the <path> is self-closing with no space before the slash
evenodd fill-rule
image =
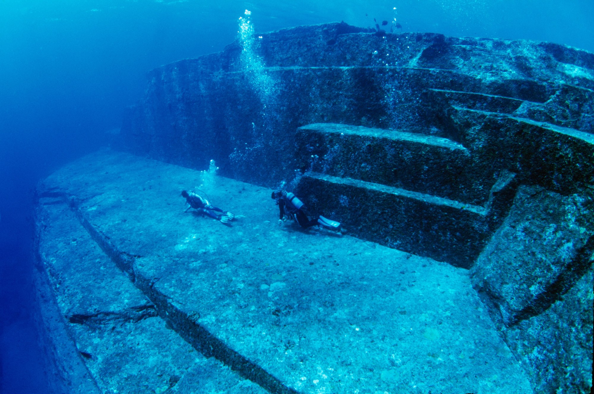
<path id="1" fill-rule="evenodd" d="M 345 24 L 260 36 L 261 69 L 242 63 L 234 43 L 151 71 L 146 96 L 122 128 L 128 148 L 198 168 L 214 159 L 227 175 L 273 185 L 292 177 L 295 131 L 309 123 L 403 129 L 473 151 L 486 142 L 472 138 L 465 121 L 513 125 L 503 115 L 514 115 L 593 131 L 594 55 L 582 50 L 428 33 L 378 37 Z M 258 74 L 267 84 L 255 81 Z M 509 142 L 521 145 L 524 136 L 514 134 L 524 128 L 513 126 Z M 514 167 L 516 157 L 482 159 L 494 173 Z"/>

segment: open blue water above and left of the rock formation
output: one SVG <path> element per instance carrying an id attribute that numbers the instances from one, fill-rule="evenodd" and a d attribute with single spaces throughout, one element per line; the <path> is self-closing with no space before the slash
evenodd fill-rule
<path id="1" fill-rule="evenodd" d="M 151 68 L 232 42 L 246 8 L 256 31 L 339 20 L 371 27 L 396 17 L 404 31 L 594 52 L 592 0 L 0 2 L 1 392 L 47 392 L 32 324 L 36 182 L 108 144 Z"/>

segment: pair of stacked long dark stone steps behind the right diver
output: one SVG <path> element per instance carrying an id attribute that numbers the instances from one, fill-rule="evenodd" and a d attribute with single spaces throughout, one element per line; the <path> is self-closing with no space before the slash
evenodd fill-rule
<path id="1" fill-rule="evenodd" d="M 474 166 L 447 138 L 315 123 L 297 132 L 297 187 L 363 239 L 469 268 L 511 205 L 510 171 Z"/>

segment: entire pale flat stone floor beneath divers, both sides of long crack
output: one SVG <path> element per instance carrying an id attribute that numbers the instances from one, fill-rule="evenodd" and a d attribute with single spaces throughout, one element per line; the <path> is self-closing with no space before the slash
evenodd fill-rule
<path id="1" fill-rule="evenodd" d="M 184 212 L 201 183 L 235 221 Z M 41 263 L 102 392 L 531 393 L 466 269 L 279 225 L 271 189 L 122 152 L 39 191 Z"/>

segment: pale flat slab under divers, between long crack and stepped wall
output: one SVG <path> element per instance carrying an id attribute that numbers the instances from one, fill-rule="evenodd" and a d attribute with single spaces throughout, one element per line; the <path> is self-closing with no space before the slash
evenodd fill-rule
<path id="1" fill-rule="evenodd" d="M 237 220 L 226 226 L 184 213 L 183 189 L 204 190 Z M 113 151 L 81 158 L 39 186 L 42 199 L 70 207 L 74 215 L 61 220 L 82 224 L 154 306 L 144 323 L 159 317 L 235 371 L 233 379 L 275 393 L 532 393 L 466 269 L 279 224 L 270 193 Z M 72 269 L 72 256 L 54 269 Z M 84 309 L 93 310 L 89 300 Z M 78 310 L 74 300 L 58 303 Z M 105 380 L 100 368 L 89 370 Z M 185 390 L 201 392 L 194 389 Z"/>

